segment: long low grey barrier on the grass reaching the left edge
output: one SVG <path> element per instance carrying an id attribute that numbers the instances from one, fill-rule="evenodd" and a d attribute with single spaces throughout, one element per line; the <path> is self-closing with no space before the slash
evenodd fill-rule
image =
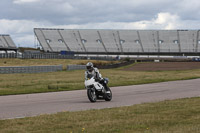
<path id="1" fill-rule="evenodd" d="M 56 72 L 56 71 L 62 71 L 62 65 L 0 67 L 0 74 L 41 73 L 41 72 Z"/>

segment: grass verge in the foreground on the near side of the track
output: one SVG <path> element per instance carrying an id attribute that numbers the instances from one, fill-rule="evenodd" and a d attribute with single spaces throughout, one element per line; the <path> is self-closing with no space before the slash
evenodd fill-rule
<path id="1" fill-rule="evenodd" d="M 200 98 L 0 120 L 1 133 L 199 133 Z"/>

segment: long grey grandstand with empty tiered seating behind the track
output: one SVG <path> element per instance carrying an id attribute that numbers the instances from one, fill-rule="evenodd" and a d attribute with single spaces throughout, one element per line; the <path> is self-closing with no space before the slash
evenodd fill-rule
<path id="1" fill-rule="evenodd" d="M 104 55 L 200 55 L 199 31 L 34 29 L 45 52 Z"/>

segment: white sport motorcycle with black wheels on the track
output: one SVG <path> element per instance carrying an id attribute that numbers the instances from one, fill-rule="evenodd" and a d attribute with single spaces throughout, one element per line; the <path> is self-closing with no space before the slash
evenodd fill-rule
<path id="1" fill-rule="evenodd" d="M 104 83 L 108 84 L 108 78 L 104 79 Z M 106 91 L 105 87 L 97 82 L 94 77 L 85 80 L 85 88 L 87 89 L 87 96 L 90 102 L 96 102 L 96 100 L 111 101 L 112 92 L 108 87 Z"/>

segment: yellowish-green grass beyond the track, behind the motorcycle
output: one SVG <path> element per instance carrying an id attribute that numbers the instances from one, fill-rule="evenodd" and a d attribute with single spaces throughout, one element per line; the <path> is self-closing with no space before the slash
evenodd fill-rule
<path id="1" fill-rule="evenodd" d="M 87 60 L 19 60 L 25 65 L 43 64 L 80 64 Z M 18 59 L 10 60 L 8 64 L 17 65 Z M 3 62 L 1 60 L 1 62 Z M 45 64 L 44 63 L 44 64 Z M 96 62 L 110 63 L 110 62 Z M 22 65 L 22 64 L 21 64 Z M 127 66 L 131 67 L 131 65 Z M 200 70 L 184 71 L 124 71 L 118 69 L 100 70 L 103 77 L 110 79 L 109 86 L 125 86 L 146 83 L 156 83 L 173 80 L 200 78 Z M 60 71 L 36 74 L 1 74 L 0 76 L 0 95 L 28 94 L 53 91 L 67 91 L 84 89 L 84 70 Z"/>

